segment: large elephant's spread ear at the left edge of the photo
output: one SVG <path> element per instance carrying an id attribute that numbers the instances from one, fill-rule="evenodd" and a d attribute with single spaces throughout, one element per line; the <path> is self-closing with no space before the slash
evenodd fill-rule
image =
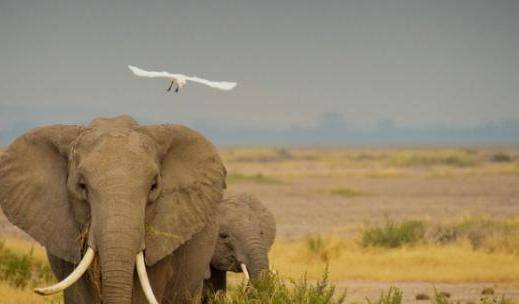
<path id="1" fill-rule="evenodd" d="M 81 127 L 36 128 L 16 139 L 0 158 L 0 206 L 53 255 L 80 260 L 79 229 L 67 193 L 67 154 Z"/>

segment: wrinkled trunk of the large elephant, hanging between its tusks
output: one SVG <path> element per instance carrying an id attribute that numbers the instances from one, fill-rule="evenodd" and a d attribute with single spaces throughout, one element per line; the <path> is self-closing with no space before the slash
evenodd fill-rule
<path id="1" fill-rule="evenodd" d="M 137 211 L 130 200 L 103 203 L 103 220 L 95 228 L 102 300 L 105 304 L 131 303 L 135 258 L 144 249 L 144 210 Z"/>

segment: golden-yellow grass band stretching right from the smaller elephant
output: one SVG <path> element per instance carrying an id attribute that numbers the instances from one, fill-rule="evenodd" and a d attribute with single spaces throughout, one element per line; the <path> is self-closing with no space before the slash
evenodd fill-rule
<path id="1" fill-rule="evenodd" d="M 278 241 L 270 253 L 272 268 L 283 277 L 307 273 L 318 279 L 328 263 L 334 281 L 519 282 L 518 255 L 476 251 L 467 243 L 397 249 L 362 248 L 334 237 L 327 243 L 326 262 L 303 241 Z"/>

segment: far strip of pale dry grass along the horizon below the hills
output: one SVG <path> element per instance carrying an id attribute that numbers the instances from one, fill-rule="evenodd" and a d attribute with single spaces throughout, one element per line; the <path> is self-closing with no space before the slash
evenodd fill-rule
<path id="1" fill-rule="evenodd" d="M 222 149 L 231 173 L 274 177 L 353 176 L 394 178 L 519 174 L 517 149 L 509 162 L 492 161 L 492 149 L 319 149 L 243 147 Z M 507 155 L 508 155 L 507 154 Z"/>

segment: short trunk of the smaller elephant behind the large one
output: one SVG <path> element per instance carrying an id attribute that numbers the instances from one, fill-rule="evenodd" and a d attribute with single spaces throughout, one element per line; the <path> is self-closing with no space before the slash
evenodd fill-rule
<path id="1" fill-rule="evenodd" d="M 245 241 L 245 252 L 247 252 L 247 268 L 250 278 L 254 282 L 268 272 L 269 261 L 267 249 L 259 237 L 250 237 Z"/>

